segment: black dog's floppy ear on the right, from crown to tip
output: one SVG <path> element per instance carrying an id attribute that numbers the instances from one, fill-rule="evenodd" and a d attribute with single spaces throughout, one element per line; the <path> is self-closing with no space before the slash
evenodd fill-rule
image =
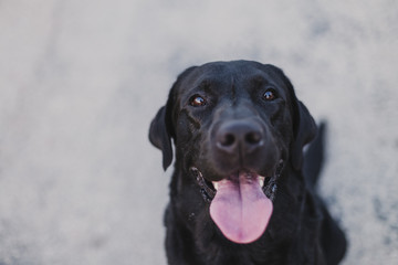
<path id="1" fill-rule="evenodd" d="M 297 99 L 292 82 L 287 78 L 283 71 L 273 65 L 268 66 L 271 67 L 280 78 L 282 78 L 282 82 L 287 87 L 291 97 L 293 114 L 293 144 L 291 146 L 291 159 L 293 169 L 301 170 L 303 167 L 303 148 L 315 138 L 317 130 L 316 125 L 308 109 Z"/>

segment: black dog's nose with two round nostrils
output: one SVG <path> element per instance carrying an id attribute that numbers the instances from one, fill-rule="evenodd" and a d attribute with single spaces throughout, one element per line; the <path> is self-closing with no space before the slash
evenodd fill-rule
<path id="1" fill-rule="evenodd" d="M 247 155 L 263 145 L 263 130 L 249 120 L 222 123 L 216 132 L 217 148 L 228 153 Z"/>

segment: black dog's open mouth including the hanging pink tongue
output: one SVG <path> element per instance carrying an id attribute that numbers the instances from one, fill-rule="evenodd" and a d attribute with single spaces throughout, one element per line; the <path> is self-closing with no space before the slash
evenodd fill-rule
<path id="1" fill-rule="evenodd" d="M 282 169 L 281 160 L 273 176 L 239 170 L 220 181 L 207 180 L 195 167 L 190 171 L 203 199 L 210 202 L 210 216 L 222 234 L 234 243 L 248 244 L 256 241 L 268 226 Z"/>

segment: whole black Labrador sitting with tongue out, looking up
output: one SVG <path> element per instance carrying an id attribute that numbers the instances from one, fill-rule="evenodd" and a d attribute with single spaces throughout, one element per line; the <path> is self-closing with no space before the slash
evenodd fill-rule
<path id="1" fill-rule="evenodd" d="M 338 264 L 343 232 L 314 192 L 322 139 L 283 72 L 256 62 L 186 70 L 150 125 L 166 169 L 169 264 Z M 308 161 L 304 161 L 306 160 Z"/>

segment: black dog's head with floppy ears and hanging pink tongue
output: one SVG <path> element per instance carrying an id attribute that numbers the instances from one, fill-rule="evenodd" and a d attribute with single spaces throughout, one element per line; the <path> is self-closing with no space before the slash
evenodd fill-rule
<path id="1" fill-rule="evenodd" d="M 273 211 L 282 168 L 300 171 L 303 146 L 316 126 L 283 72 L 256 62 L 216 62 L 179 75 L 149 139 L 164 168 L 197 179 L 221 232 L 237 243 L 255 241 Z M 188 177 L 189 176 L 189 177 Z"/>

